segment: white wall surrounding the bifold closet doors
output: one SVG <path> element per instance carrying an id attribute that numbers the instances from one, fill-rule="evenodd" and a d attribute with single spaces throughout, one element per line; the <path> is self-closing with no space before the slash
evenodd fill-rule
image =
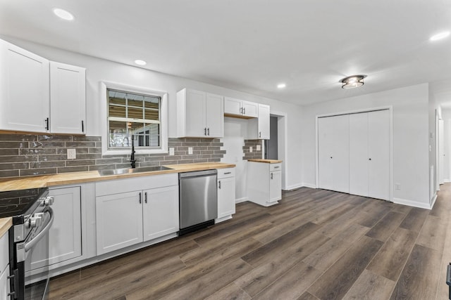
<path id="1" fill-rule="evenodd" d="M 393 89 L 364 96 L 343 98 L 302 110 L 302 181 L 316 185 L 317 115 L 373 107 L 393 107 L 393 191 L 395 202 L 429 207 L 428 84 Z"/>

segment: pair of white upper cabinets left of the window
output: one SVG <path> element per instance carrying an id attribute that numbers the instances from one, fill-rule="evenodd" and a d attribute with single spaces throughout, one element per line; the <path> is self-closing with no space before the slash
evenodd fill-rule
<path id="1" fill-rule="evenodd" d="M 85 69 L 0 39 L 0 130 L 83 134 Z"/>

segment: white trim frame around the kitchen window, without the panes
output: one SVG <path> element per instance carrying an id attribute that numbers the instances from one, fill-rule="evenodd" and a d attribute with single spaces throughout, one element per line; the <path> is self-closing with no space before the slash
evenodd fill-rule
<path id="1" fill-rule="evenodd" d="M 168 93 L 166 91 L 158 91 L 147 89 L 140 86 L 130 86 L 127 84 L 118 84 L 116 82 L 101 81 L 101 152 L 102 155 L 130 155 L 130 150 L 126 149 L 109 149 L 108 147 L 108 94 L 107 89 L 115 89 L 130 93 L 140 93 L 151 96 L 159 96 L 160 100 L 160 128 L 161 128 L 161 145 L 159 148 L 135 148 L 135 154 L 154 154 L 168 152 Z"/>

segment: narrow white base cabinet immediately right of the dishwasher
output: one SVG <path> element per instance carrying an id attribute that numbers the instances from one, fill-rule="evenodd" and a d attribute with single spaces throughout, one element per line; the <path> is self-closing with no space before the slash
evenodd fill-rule
<path id="1" fill-rule="evenodd" d="M 235 214 L 235 168 L 218 169 L 218 219 L 230 219 Z"/>

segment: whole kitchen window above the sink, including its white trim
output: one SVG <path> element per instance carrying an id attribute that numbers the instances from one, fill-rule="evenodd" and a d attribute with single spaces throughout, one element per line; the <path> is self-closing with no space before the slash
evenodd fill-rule
<path id="1" fill-rule="evenodd" d="M 102 81 L 101 99 L 102 155 L 130 155 L 132 135 L 137 154 L 168 152 L 167 92 Z"/>

